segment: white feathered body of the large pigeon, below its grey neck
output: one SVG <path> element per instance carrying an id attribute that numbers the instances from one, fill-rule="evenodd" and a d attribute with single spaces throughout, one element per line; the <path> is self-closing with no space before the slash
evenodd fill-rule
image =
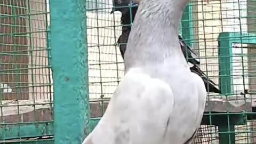
<path id="1" fill-rule="evenodd" d="M 201 77 L 188 73 L 182 78 L 187 71 L 178 70 L 154 78 L 144 71 L 132 68 L 127 72 L 106 113 L 83 144 L 183 144 L 191 137 L 205 106 L 206 91 L 202 89 Z M 171 79 L 179 82 L 170 85 Z"/>

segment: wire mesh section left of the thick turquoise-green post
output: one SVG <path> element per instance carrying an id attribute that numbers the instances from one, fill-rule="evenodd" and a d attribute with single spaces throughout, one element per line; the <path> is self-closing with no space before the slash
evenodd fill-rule
<path id="1" fill-rule="evenodd" d="M 49 134 L 47 125 L 53 122 L 49 17 L 46 0 L 0 1 L 0 140 L 3 142 Z"/>

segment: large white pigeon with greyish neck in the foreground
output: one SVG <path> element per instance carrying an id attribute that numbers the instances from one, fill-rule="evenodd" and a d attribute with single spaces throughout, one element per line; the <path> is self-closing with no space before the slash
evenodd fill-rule
<path id="1" fill-rule="evenodd" d="M 83 144 L 189 144 L 206 90 L 180 49 L 179 22 L 189 0 L 143 0 L 124 55 L 125 76 Z"/>

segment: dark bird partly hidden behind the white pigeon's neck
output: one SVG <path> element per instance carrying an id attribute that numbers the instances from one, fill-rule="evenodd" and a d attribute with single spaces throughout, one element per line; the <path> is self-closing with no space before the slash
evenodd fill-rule
<path id="1" fill-rule="evenodd" d="M 131 31 L 131 23 L 133 22 L 137 13 L 139 4 L 131 0 L 114 0 L 113 4 L 113 10 L 110 13 L 114 13 L 115 11 L 122 13 L 122 34 L 119 36 L 116 44 L 119 46 L 121 55 L 124 58 L 126 44 Z M 184 57 L 187 58 L 190 70 L 202 77 L 207 92 L 221 93 L 221 91 L 217 88 L 217 84 L 215 84 L 211 79 L 207 78 L 207 75 L 198 67 L 198 65 L 200 65 L 200 61 L 198 60 L 197 55 L 191 50 L 191 47 L 186 44 L 181 35 L 179 35 L 179 40 L 181 50 Z"/>

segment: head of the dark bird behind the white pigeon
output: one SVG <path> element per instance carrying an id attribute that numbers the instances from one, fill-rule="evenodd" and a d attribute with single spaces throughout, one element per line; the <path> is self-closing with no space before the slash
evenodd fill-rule
<path id="1" fill-rule="evenodd" d="M 129 11 L 129 7 L 128 6 L 138 6 L 138 0 L 133 1 L 133 0 L 114 0 L 113 1 L 113 9 L 110 12 L 110 14 L 114 13 L 115 11 L 119 11 L 121 13 L 125 13 L 127 11 Z"/>

